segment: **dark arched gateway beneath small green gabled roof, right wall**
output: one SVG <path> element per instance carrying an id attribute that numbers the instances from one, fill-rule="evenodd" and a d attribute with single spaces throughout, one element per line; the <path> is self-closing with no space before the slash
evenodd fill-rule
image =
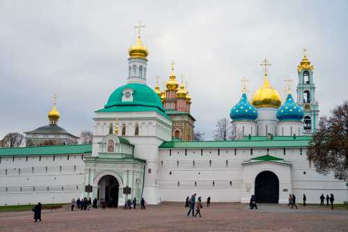
<path id="1" fill-rule="evenodd" d="M 271 171 L 262 171 L 255 179 L 255 196 L 258 203 L 278 203 L 279 180 Z"/>

